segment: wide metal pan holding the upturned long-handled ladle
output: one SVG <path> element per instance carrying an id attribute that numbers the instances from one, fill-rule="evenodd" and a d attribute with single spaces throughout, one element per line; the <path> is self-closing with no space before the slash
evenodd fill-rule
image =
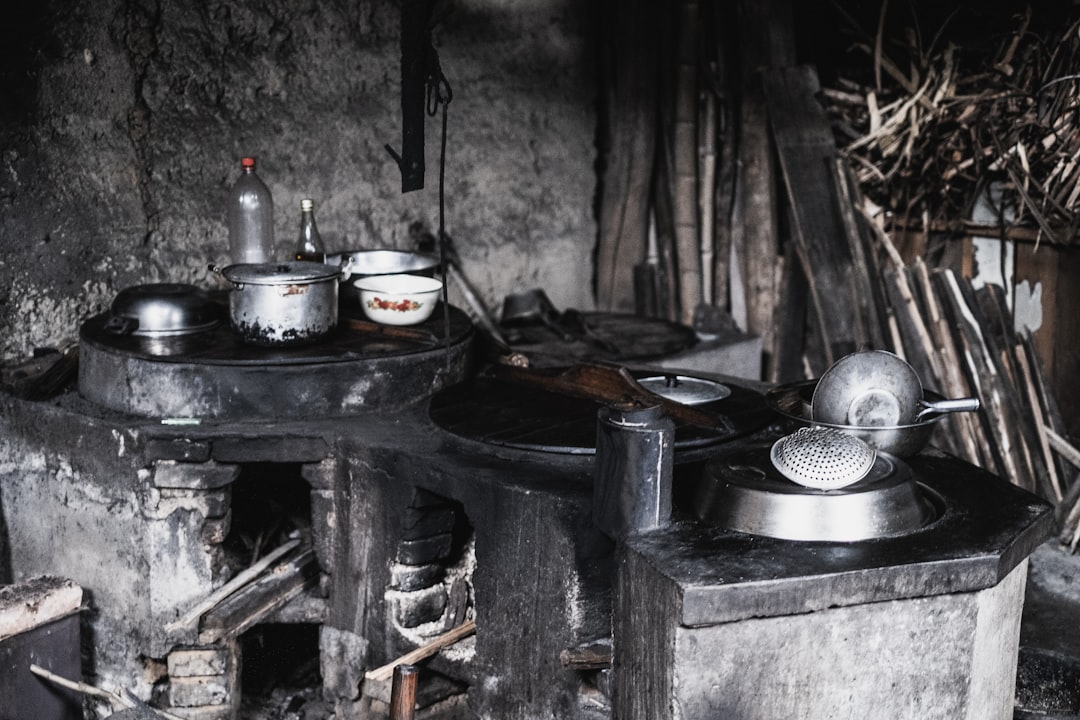
<path id="1" fill-rule="evenodd" d="M 917 454 L 930 441 L 937 423 L 945 416 L 929 417 L 920 422 L 906 425 L 882 425 L 861 427 L 842 423 L 828 423 L 811 418 L 810 400 L 818 385 L 816 380 L 805 380 L 771 389 L 765 395 L 766 404 L 796 427 L 831 427 L 853 435 L 879 452 L 888 452 L 899 458 Z M 929 390 L 923 394 L 930 402 L 943 400 L 941 395 Z"/>

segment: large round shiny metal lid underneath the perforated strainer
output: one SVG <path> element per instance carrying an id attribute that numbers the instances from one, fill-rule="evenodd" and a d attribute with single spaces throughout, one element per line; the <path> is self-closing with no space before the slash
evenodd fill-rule
<path id="1" fill-rule="evenodd" d="M 906 535 L 929 526 L 942 499 L 902 460 L 879 453 L 858 483 L 819 490 L 789 481 L 772 465 L 769 446 L 744 448 L 710 462 L 693 493 L 693 512 L 728 530 L 784 540 L 854 542 Z"/>

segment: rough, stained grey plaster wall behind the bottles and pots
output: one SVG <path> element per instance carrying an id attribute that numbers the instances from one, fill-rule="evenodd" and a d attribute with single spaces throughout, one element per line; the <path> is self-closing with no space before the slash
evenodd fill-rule
<path id="1" fill-rule="evenodd" d="M 465 0 L 435 30 L 449 106 L 446 230 L 497 311 L 543 287 L 591 309 L 588 5 Z M 399 3 L 41 0 L 0 30 L 0 357 L 77 339 L 123 287 L 212 287 L 225 199 L 259 160 L 288 253 L 310 196 L 332 252 L 438 223 L 441 123 L 403 194 Z M 451 289 L 451 301 L 463 305 Z"/>

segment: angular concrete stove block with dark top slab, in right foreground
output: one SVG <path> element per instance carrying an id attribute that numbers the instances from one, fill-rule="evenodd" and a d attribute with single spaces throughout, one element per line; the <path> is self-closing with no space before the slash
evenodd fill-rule
<path id="1" fill-rule="evenodd" d="M 621 548 L 620 720 L 1009 720 L 1049 504 L 937 454 L 927 528 L 796 542 L 677 521 Z"/>

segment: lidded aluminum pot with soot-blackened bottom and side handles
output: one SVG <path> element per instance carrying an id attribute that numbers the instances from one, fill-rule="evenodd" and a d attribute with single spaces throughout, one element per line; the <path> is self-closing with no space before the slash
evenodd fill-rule
<path id="1" fill-rule="evenodd" d="M 244 342 L 307 344 L 337 327 L 340 268 L 322 262 L 255 262 L 211 270 L 231 287 L 229 320 Z"/>

